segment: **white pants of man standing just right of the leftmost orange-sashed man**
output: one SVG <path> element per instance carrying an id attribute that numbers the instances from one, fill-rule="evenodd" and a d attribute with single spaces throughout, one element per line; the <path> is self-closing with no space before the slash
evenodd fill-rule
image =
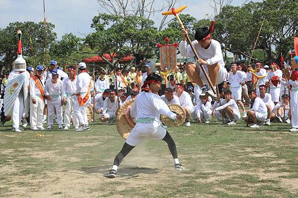
<path id="1" fill-rule="evenodd" d="M 61 97 L 58 97 L 48 100 L 48 126 L 53 125 L 54 107 L 56 109 L 57 114 L 57 123 L 59 125 L 63 125 Z"/>

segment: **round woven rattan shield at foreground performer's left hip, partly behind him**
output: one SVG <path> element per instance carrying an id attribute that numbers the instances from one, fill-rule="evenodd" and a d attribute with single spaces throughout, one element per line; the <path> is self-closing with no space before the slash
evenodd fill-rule
<path id="1" fill-rule="evenodd" d="M 128 106 L 133 105 L 135 99 L 130 99 L 127 102 L 125 102 L 119 109 L 117 113 L 117 118 L 116 118 L 116 126 L 117 126 L 117 131 L 122 136 L 125 140 L 129 136 L 131 130 L 133 129 L 132 125 L 129 124 L 125 117 L 125 111 Z"/>

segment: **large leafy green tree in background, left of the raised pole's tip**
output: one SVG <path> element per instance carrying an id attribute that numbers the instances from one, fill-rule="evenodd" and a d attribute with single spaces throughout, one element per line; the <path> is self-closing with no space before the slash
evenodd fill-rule
<path id="1" fill-rule="evenodd" d="M 100 13 L 93 18 L 91 27 L 95 32 L 87 35 L 85 43 L 111 67 L 115 67 L 123 57 L 139 50 L 143 51 L 146 58 L 151 58 L 157 50 L 155 46 L 158 38 L 157 28 L 153 25 L 152 20 L 143 17 Z M 105 53 L 110 55 L 111 62 L 103 56 Z"/>

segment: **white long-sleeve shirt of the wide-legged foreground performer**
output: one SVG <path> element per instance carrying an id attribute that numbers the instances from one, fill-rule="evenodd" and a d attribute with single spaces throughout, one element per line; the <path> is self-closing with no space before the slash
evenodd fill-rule
<path id="1" fill-rule="evenodd" d="M 160 114 L 176 119 L 176 114 L 169 109 L 166 103 L 158 95 L 151 92 L 141 92 L 138 95 L 130 114 L 131 117 L 136 117 L 136 120 L 152 118 L 159 122 Z"/>

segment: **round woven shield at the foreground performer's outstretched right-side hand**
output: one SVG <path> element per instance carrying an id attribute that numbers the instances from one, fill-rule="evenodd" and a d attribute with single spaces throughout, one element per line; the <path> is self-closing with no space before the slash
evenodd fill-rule
<path id="1" fill-rule="evenodd" d="M 168 105 L 169 109 L 179 115 L 182 115 L 182 120 L 173 120 L 165 115 L 161 115 L 161 121 L 164 125 L 168 126 L 168 127 L 179 127 L 184 123 L 186 114 L 185 114 L 185 110 L 182 106 L 180 106 L 179 104 L 169 104 Z"/>

